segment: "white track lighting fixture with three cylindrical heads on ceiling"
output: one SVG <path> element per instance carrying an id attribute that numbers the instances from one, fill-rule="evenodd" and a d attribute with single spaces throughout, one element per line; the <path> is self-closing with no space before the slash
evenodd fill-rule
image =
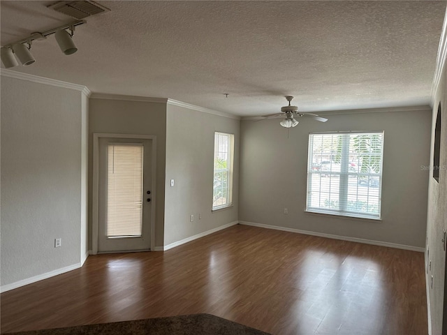
<path id="1" fill-rule="evenodd" d="M 78 48 L 72 39 L 75 27 L 85 23 L 87 23 L 85 20 L 78 20 L 71 24 L 66 24 L 61 27 L 44 31 L 43 33 L 33 33 L 31 36 L 24 38 L 23 40 L 18 40 L 15 43 L 3 45 L 3 47 L 1 47 L 1 62 L 5 68 L 12 68 L 13 66 L 19 65 L 17 63 L 17 59 L 14 57 L 15 55 L 23 66 L 33 64 L 36 59 L 34 59 L 33 55 L 29 51 L 31 49 L 31 41 L 43 40 L 51 34 L 55 35 L 57 44 L 64 54 L 74 54 L 78 51 Z M 69 29 L 70 33 L 68 33 L 66 29 Z"/>

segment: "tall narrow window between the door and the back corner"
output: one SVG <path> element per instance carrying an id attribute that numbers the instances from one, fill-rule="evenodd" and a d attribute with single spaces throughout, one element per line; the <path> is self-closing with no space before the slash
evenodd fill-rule
<path id="1" fill-rule="evenodd" d="M 213 210 L 233 204 L 233 137 L 232 134 L 214 133 Z"/>

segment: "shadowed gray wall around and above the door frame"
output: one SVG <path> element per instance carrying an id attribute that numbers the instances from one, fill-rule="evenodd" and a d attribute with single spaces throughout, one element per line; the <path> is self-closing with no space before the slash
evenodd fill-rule
<path id="1" fill-rule="evenodd" d="M 91 250 L 91 177 L 93 133 L 156 135 L 155 246 L 163 246 L 166 103 L 90 98 L 89 104 L 89 248 Z M 153 246 L 152 246 L 153 247 Z"/>

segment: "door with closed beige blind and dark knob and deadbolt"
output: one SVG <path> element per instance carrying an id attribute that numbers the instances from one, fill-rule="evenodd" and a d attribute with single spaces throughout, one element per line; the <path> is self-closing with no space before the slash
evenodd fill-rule
<path id="1" fill-rule="evenodd" d="M 99 138 L 98 252 L 151 248 L 152 140 Z"/>

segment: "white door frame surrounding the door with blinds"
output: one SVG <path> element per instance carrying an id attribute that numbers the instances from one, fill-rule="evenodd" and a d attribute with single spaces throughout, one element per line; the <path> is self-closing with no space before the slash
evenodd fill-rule
<path id="1" fill-rule="evenodd" d="M 151 213 L 151 240 L 150 250 L 155 248 L 155 218 L 156 218 L 156 135 L 134 134 L 93 134 L 93 176 L 91 192 L 91 254 L 98 253 L 98 203 L 99 203 L 99 139 L 100 138 L 126 138 L 130 140 L 152 140 L 152 213 Z"/>

